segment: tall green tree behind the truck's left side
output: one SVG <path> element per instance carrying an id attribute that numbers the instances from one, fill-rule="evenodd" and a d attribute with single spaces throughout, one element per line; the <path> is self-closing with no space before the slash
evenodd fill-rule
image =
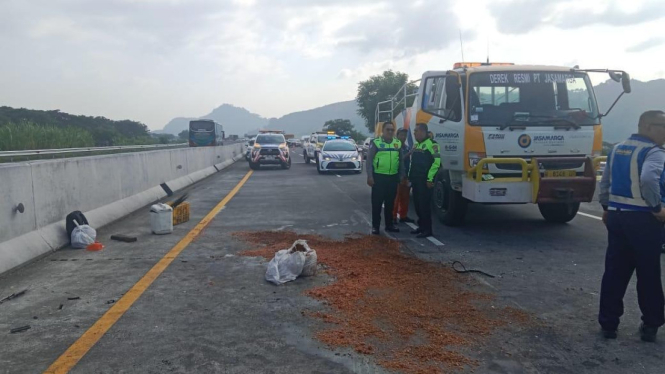
<path id="1" fill-rule="evenodd" d="M 404 95 L 400 92 L 400 97 L 396 100 L 396 106 L 391 116 L 383 114 L 385 117 L 374 118 L 376 105 L 382 101 L 389 100 L 395 96 L 400 88 L 409 81 L 409 76 L 406 73 L 394 72 L 392 70 L 384 71 L 381 75 L 371 76 L 368 80 L 358 83 L 358 94 L 356 95 L 356 102 L 358 103 L 358 115 L 365 119 L 365 126 L 370 132 L 374 132 L 374 126 L 378 121 L 392 120 L 392 118 L 404 109 L 404 102 L 397 104 Z M 407 93 L 412 93 L 417 89 L 413 83 L 407 85 Z M 406 105 L 413 104 L 413 97 L 408 98 Z"/>

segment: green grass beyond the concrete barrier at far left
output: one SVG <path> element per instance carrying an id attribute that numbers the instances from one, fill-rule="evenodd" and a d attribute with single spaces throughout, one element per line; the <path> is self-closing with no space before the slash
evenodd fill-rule
<path id="1" fill-rule="evenodd" d="M 0 151 L 79 148 L 94 145 L 92 135 L 80 128 L 40 126 L 32 122 L 0 125 Z"/>

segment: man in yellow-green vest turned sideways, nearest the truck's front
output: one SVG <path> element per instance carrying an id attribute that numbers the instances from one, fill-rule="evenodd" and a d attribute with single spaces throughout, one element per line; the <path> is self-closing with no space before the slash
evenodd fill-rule
<path id="1" fill-rule="evenodd" d="M 413 187 L 418 228 L 411 231 L 411 234 L 417 234 L 417 238 L 426 238 L 432 236 L 432 188 L 434 177 L 441 167 L 441 156 L 439 145 L 428 136 L 427 124 L 417 124 L 414 135 L 416 145 L 411 149 L 409 180 Z"/>

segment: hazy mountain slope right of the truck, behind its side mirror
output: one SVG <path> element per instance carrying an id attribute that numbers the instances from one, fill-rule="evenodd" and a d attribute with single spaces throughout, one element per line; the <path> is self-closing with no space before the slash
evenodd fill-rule
<path id="1" fill-rule="evenodd" d="M 652 109 L 665 110 L 665 79 L 648 82 L 631 80 L 632 92 L 623 95 L 610 114 L 603 118 L 603 140 L 617 143 L 637 132 L 640 115 Z M 621 93 L 620 83 L 608 80 L 595 87 L 600 111 L 605 113 Z"/>

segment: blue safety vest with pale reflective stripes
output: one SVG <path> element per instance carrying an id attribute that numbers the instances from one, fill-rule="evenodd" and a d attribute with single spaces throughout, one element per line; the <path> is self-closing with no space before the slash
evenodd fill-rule
<path id="1" fill-rule="evenodd" d="M 650 211 L 640 190 L 640 174 L 647 153 L 658 147 L 650 139 L 632 135 L 617 144 L 608 165 L 610 166 L 610 209 Z"/>

